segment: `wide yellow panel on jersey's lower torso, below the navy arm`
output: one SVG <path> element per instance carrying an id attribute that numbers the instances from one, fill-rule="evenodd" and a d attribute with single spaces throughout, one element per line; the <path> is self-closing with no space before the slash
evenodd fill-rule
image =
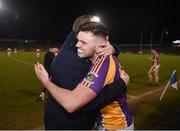
<path id="1" fill-rule="evenodd" d="M 117 101 L 100 110 L 103 114 L 103 125 L 108 130 L 120 130 L 127 127 L 126 117 Z"/>

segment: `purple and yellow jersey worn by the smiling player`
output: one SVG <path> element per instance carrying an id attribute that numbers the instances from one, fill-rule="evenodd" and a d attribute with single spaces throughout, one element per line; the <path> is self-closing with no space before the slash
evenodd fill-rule
<path id="1" fill-rule="evenodd" d="M 119 61 L 115 56 L 99 56 L 83 80 L 83 84 L 98 94 L 102 88 L 120 78 Z M 125 94 L 102 108 L 97 119 L 104 129 L 123 129 L 131 125 L 132 114 L 129 110 Z"/>

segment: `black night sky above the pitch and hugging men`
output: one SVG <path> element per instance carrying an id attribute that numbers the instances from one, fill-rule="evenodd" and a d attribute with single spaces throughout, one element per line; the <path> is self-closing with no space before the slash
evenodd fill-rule
<path id="1" fill-rule="evenodd" d="M 117 44 L 171 43 L 180 39 L 177 1 L 159 0 L 0 0 L 0 39 L 63 43 L 73 21 L 94 14 Z M 142 34 L 142 37 L 140 38 Z"/>

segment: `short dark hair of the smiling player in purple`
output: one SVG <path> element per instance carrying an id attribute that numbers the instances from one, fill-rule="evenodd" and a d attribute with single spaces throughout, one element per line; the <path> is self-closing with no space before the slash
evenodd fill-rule
<path id="1" fill-rule="evenodd" d="M 106 37 L 109 34 L 106 25 L 101 22 L 86 22 L 81 24 L 78 28 L 78 33 L 80 31 L 90 31 L 100 37 Z"/>

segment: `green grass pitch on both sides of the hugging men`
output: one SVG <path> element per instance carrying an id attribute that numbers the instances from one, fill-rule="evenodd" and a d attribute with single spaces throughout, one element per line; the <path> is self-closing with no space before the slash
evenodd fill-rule
<path id="1" fill-rule="evenodd" d="M 8 57 L 6 52 L 0 52 L 0 129 L 44 129 L 44 102 L 38 99 L 42 85 L 34 72 L 34 64 L 42 63 L 43 56 L 44 52 L 40 58 L 34 52 L 18 52 Z M 159 101 L 174 69 L 180 79 L 180 56 L 160 54 L 158 86 L 148 82 L 149 56 L 123 53 L 118 57 L 130 75 L 127 96 L 135 129 L 180 129 L 179 89 L 168 87 Z"/>

